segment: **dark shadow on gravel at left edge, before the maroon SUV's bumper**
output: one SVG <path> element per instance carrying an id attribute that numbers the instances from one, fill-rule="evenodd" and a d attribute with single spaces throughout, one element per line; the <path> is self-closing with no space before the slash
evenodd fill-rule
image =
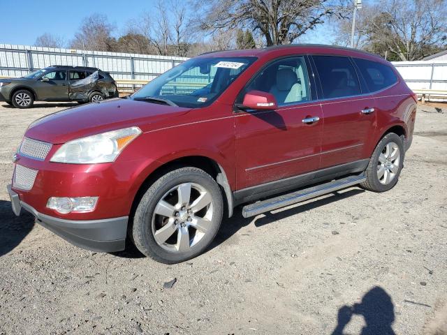
<path id="1" fill-rule="evenodd" d="M 15 216 L 11 202 L 0 200 L 0 257 L 12 251 L 34 227 L 34 216 L 22 211 Z"/>

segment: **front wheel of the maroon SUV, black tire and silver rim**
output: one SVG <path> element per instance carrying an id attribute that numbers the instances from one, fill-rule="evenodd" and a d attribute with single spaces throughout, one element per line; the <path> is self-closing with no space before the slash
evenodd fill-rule
<path id="1" fill-rule="evenodd" d="M 179 168 L 155 181 L 142 196 L 133 216 L 133 242 L 158 262 L 184 262 L 210 245 L 222 214 L 216 181 L 198 168 Z"/>

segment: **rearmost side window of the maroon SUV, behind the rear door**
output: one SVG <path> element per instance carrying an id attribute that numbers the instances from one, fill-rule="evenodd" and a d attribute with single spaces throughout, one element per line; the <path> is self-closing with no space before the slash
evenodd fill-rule
<path id="1" fill-rule="evenodd" d="M 365 78 L 369 91 L 380 91 L 397 82 L 397 76 L 390 66 L 377 63 L 376 61 L 367 61 L 366 59 L 354 59 Z"/>

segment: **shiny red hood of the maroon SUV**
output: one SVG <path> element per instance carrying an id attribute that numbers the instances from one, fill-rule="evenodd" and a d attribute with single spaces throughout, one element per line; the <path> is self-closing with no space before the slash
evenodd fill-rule
<path id="1" fill-rule="evenodd" d="M 111 99 L 68 108 L 34 121 L 25 135 L 61 144 L 69 140 L 131 126 L 145 133 L 156 123 L 189 112 L 191 108 L 158 105 L 129 99 Z"/>

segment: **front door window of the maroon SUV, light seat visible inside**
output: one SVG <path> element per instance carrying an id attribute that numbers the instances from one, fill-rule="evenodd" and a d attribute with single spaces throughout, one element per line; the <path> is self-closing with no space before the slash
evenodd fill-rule
<path id="1" fill-rule="evenodd" d="M 251 90 L 271 93 L 278 105 L 309 101 L 311 98 L 308 78 L 304 57 L 281 59 L 256 75 L 244 89 L 244 93 Z"/>

